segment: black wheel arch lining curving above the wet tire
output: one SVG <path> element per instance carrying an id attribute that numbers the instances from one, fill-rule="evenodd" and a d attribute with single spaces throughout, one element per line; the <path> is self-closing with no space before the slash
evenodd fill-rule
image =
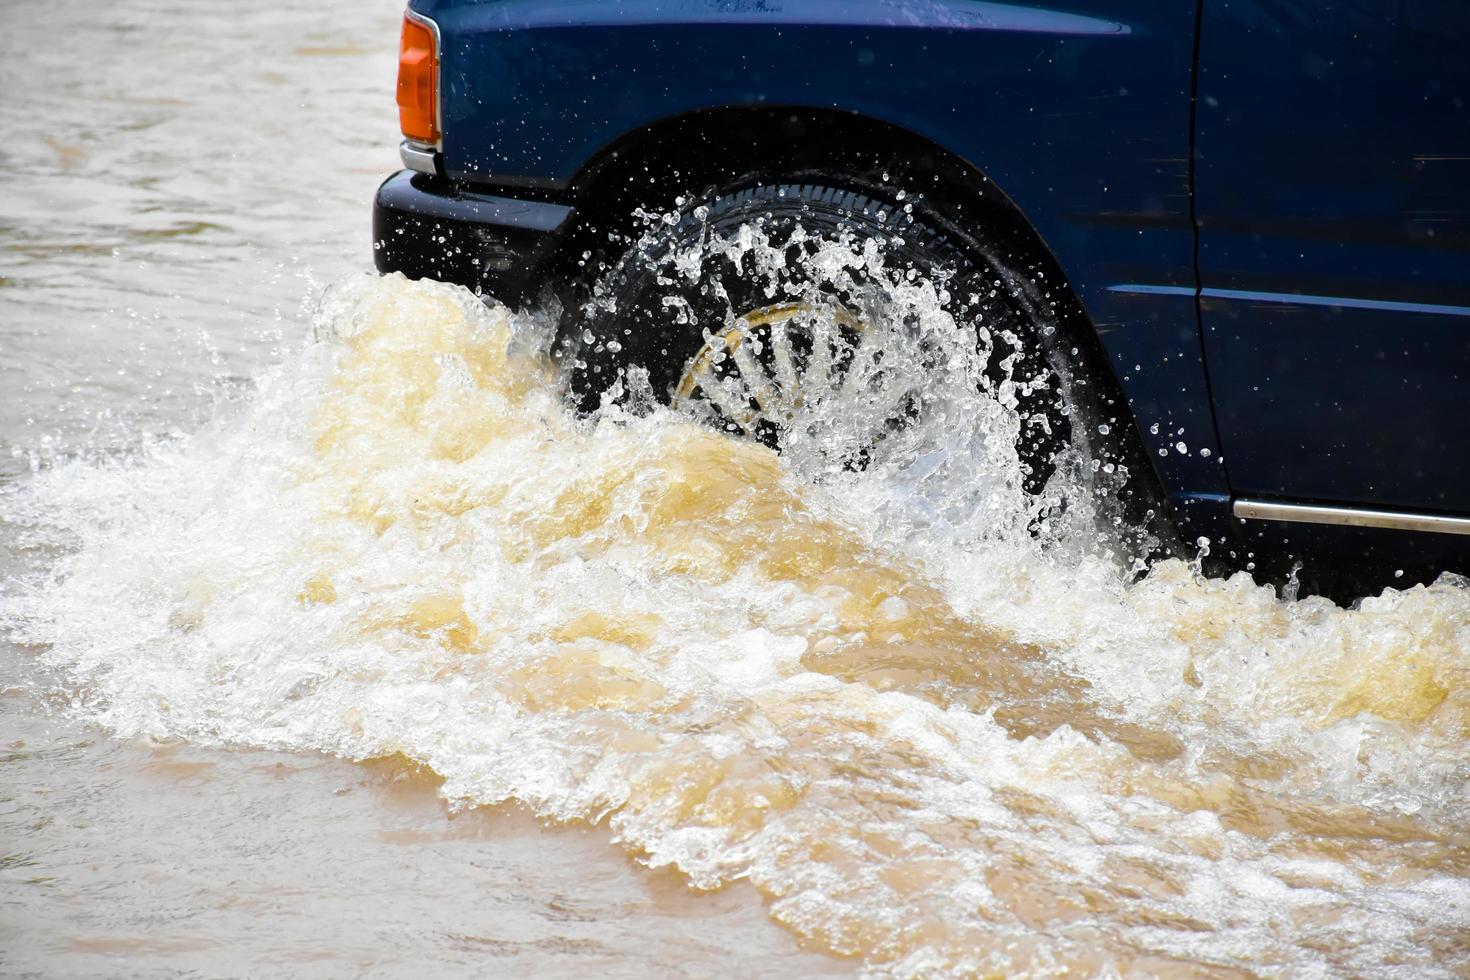
<path id="1" fill-rule="evenodd" d="M 681 195 L 801 178 L 888 198 L 901 190 L 907 200 L 928 203 L 961 245 L 1019 273 L 1023 303 L 1041 322 L 1055 325 L 1072 348 L 1073 395 L 1089 417 L 1113 423 L 1111 451 L 1147 475 L 1152 485 L 1147 507 L 1161 513 L 1158 476 L 1136 419 L 1051 250 L 979 167 L 911 131 L 857 113 L 781 106 L 710 109 L 648 125 L 601 150 L 572 179 L 575 225 L 547 279 L 588 285 L 637 235 L 638 209 L 666 212 Z"/>

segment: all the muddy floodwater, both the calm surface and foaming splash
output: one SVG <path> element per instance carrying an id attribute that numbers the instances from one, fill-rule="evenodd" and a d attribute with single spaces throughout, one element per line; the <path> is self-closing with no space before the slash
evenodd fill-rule
<path id="1" fill-rule="evenodd" d="M 576 417 L 365 272 L 397 16 L 0 13 L 0 973 L 1470 971 L 1464 579 L 1133 582 L 973 385 Z"/>

